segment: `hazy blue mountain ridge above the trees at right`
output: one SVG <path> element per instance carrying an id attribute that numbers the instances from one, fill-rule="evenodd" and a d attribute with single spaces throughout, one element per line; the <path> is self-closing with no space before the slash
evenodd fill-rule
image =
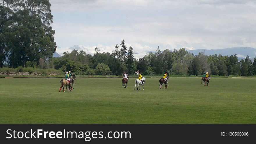
<path id="1" fill-rule="evenodd" d="M 214 55 L 214 54 L 221 54 L 222 56 L 230 56 L 237 54 L 238 58 L 246 58 L 248 55 L 250 59 L 253 59 L 256 56 L 256 49 L 252 47 L 231 47 L 226 49 L 195 49 L 195 50 L 188 50 L 195 55 L 198 55 L 199 52 L 203 52 L 205 55 Z"/>

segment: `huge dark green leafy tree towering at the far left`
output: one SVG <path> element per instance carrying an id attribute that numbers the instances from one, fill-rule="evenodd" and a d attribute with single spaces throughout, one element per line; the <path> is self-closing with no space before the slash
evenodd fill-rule
<path id="1" fill-rule="evenodd" d="M 3 0 L 1 3 L 1 8 L 9 8 L 11 14 L 1 13 L 6 21 L 0 33 L 0 45 L 4 47 L 10 67 L 25 66 L 27 61 L 46 61 L 56 51 L 50 6 L 48 0 Z"/>

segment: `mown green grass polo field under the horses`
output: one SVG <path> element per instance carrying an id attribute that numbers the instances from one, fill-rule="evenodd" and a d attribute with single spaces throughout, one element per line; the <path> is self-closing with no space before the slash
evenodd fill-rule
<path id="1" fill-rule="evenodd" d="M 1 78 L 0 123 L 255 123 L 256 78 L 77 78 L 59 92 L 59 78 Z"/>

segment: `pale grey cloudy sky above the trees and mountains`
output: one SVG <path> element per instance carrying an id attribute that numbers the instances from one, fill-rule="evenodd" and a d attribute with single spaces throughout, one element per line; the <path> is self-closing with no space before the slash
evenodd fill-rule
<path id="1" fill-rule="evenodd" d="M 136 58 L 164 49 L 256 48 L 250 0 L 49 0 L 56 51 L 112 52 L 122 39 Z"/>

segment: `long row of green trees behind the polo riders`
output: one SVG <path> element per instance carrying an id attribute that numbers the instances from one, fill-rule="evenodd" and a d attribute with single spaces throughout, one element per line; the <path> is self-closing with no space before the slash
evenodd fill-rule
<path id="1" fill-rule="evenodd" d="M 143 58 L 137 59 L 134 57 L 133 47 L 130 46 L 127 50 L 124 39 L 111 53 L 101 52 L 101 49 L 96 47 L 94 55 L 75 49 L 71 53 L 63 54 L 62 57 L 51 58 L 51 66 L 63 72 L 71 70 L 78 75 L 122 75 L 123 72 L 134 74 L 136 70 L 146 75 L 165 72 L 171 75 L 201 75 L 206 71 L 219 76 L 256 74 L 256 57 L 254 62 L 249 56 L 239 62 L 236 54 L 194 55 L 185 48 L 161 51 L 158 47 L 155 52 L 149 52 Z"/>

